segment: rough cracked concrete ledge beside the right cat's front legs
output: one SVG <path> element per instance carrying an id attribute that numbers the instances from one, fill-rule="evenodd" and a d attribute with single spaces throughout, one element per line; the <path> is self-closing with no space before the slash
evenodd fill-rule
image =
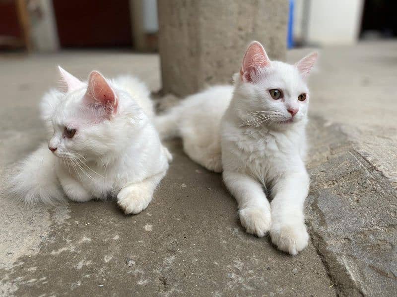
<path id="1" fill-rule="evenodd" d="M 339 296 L 394 296 L 397 195 L 341 132 L 311 120 L 308 221 Z"/>

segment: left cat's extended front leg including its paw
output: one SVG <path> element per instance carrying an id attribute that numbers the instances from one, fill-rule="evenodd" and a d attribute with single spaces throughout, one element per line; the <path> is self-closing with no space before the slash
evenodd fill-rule
<path id="1" fill-rule="evenodd" d="M 140 183 L 129 184 L 121 189 L 117 195 L 117 203 L 125 214 L 137 214 L 149 205 L 153 192 L 166 171 L 143 180 Z"/>

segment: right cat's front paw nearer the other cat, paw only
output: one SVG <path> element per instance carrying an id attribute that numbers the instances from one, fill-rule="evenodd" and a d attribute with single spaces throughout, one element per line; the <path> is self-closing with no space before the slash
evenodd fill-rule
<path id="1" fill-rule="evenodd" d="M 270 229 L 271 215 L 266 207 L 246 207 L 239 211 L 241 225 L 247 233 L 263 237 Z"/>

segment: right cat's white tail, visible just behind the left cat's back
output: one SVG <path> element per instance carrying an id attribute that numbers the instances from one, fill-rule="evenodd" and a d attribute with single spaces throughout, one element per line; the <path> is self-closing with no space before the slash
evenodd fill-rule
<path id="1" fill-rule="evenodd" d="M 154 117 L 154 125 L 162 140 L 179 136 L 179 113 L 180 110 L 177 106 L 171 108 L 164 114 Z"/>

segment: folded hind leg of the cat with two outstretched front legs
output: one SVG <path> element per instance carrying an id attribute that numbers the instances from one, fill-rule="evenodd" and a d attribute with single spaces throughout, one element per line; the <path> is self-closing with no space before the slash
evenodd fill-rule
<path id="1" fill-rule="evenodd" d="M 196 163 L 209 171 L 222 172 L 222 154 L 220 141 L 210 145 L 199 143 L 199 139 L 184 137 L 183 148 L 186 154 Z"/>

